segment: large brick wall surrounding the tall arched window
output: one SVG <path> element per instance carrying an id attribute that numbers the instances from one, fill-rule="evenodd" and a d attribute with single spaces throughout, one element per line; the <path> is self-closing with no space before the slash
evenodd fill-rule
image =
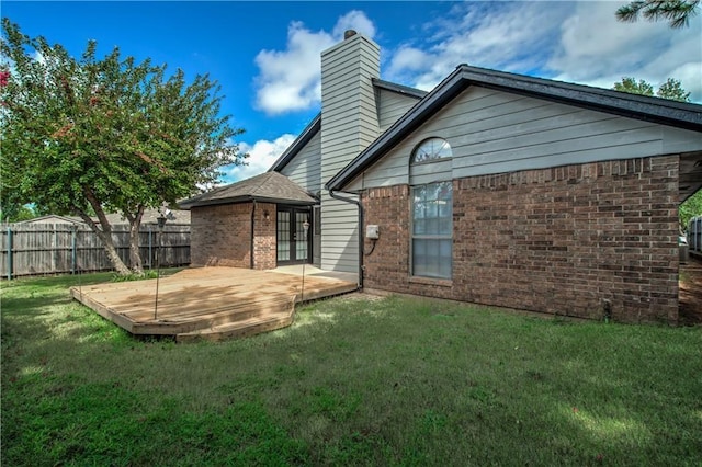
<path id="1" fill-rule="evenodd" d="M 410 276 L 409 186 L 362 194 L 381 226 L 364 286 L 614 321 L 678 319 L 677 156 L 453 181 L 453 276 Z M 365 240 L 370 251 L 371 241 Z"/>

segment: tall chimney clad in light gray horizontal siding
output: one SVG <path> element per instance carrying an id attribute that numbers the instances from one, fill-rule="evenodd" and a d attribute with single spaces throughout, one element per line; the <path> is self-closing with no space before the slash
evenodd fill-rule
<path id="1" fill-rule="evenodd" d="M 378 136 L 372 78 L 380 77 L 380 55 L 378 45 L 361 34 L 321 54 L 321 267 L 325 270 L 359 271 L 358 207 L 332 198 L 324 184 Z"/>

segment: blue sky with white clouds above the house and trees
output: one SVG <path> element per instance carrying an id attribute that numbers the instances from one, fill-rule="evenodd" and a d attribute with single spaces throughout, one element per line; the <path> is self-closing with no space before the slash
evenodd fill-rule
<path id="1" fill-rule="evenodd" d="M 2 16 L 75 55 L 95 39 L 102 54 L 210 73 L 246 129 L 249 164 L 225 168 L 231 182 L 268 169 L 319 112 L 319 54 L 348 29 L 381 45 L 383 79 L 424 90 L 467 62 L 603 88 L 673 77 L 702 102 L 702 16 L 684 30 L 619 23 L 624 3 L 2 1 Z"/>

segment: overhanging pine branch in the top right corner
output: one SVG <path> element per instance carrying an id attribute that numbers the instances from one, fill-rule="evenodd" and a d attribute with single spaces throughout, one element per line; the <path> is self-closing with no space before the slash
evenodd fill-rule
<path id="1" fill-rule="evenodd" d="M 616 10 L 619 21 L 633 23 L 638 13 L 648 21 L 669 21 L 670 27 L 687 26 L 698 14 L 700 0 L 635 0 Z"/>

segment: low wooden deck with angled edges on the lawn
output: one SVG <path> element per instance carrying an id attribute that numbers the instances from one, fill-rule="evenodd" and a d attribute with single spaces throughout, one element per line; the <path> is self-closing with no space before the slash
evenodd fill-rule
<path id="1" fill-rule="evenodd" d="M 247 337 L 290 326 L 295 304 L 356 289 L 355 282 L 236 267 L 188 269 L 156 280 L 71 287 L 72 297 L 133 334 L 178 342 Z M 155 316 L 156 314 L 156 316 Z"/>

